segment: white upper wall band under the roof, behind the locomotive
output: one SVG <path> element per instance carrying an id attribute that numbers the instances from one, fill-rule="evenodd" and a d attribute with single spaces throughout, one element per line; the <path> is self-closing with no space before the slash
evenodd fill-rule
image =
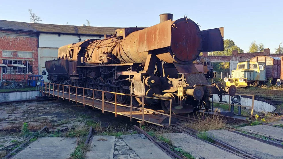
<path id="1" fill-rule="evenodd" d="M 80 38 L 82 41 L 86 39 L 104 39 L 104 36 L 86 36 L 86 35 L 81 35 Z M 71 44 L 71 43 L 77 43 L 79 42 L 79 37 L 78 35 L 66 35 L 66 34 L 61 34 L 58 36 L 58 34 L 47 34 L 47 33 L 40 33 L 38 36 L 38 47 L 45 47 L 45 48 L 59 48 L 61 46 Z"/>

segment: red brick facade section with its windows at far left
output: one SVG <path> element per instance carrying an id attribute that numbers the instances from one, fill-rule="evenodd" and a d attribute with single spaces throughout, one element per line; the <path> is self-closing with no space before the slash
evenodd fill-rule
<path id="1" fill-rule="evenodd" d="M 22 81 L 25 74 L 38 74 L 38 33 L 0 30 L 0 63 L 8 66 L 0 68 L 5 81 Z M 20 65 L 26 67 L 15 67 Z"/>

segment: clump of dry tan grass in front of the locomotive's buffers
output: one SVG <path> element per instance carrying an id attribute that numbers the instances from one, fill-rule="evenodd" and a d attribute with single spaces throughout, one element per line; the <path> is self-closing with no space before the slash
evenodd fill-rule
<path id="1" fill-rule="evenodd" d="M 214 129 L 223 129 L 226 124 L 219 114 L 220 111 L 216 109 L 214 114 L 205 114 L 204 111 L 197 112 L 196 120 L 189 123 L 184 123 L 185 126 L 191 127 L 197 131 L 204 132 Z"/>

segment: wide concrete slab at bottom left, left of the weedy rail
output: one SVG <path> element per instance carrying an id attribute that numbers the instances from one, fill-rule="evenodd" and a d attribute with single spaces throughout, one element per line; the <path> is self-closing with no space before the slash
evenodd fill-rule
<path id="1" fill-rule="evenodd" d="M 42 137 L 32 142 L 13 158 L 69 158 L 77 138 Z"/>

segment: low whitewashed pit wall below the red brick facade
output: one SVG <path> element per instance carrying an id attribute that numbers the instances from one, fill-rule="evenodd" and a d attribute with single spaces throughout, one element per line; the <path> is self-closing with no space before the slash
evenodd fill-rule
<path id="1" fill-rule="evenodd" d="M 35 99 L 37 93 L 36 91 L 0 93 L 0 103 Z"/>

